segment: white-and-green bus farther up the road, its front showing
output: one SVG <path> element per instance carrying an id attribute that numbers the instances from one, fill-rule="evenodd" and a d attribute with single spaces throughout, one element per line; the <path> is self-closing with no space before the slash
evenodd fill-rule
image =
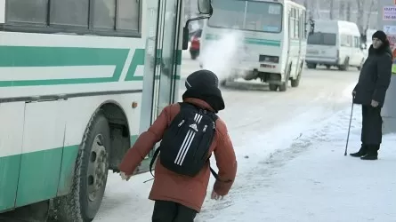
<path id="1" fill-rule="evenodd" d="M 201 52 L 224 37 L 238 36 L 230 75 L 233 81 L 260 79 L 271 91 L 298 87 L 303 75 L 308 20 L 303 5 L 291 0 L 213 0 L 214 16 L 202 32 Z M 232 47 L 232 46 L 230 46 Z M 201 62 L 202 67 L 206 67 Z"/>

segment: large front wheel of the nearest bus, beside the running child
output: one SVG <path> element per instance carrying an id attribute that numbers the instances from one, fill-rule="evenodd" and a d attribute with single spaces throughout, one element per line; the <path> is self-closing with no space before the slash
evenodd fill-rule
<path id="1" fill-rule="evenodd" d="M 96 216 L 106 189 L 109 149 L 109 122 L 99 111 L 85 130 L 70 193 L 54 202 L 56 221 L 89 222 Z"/>

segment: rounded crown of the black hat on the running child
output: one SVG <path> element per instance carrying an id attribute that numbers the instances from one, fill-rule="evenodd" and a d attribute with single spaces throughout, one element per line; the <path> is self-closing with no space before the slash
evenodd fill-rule
<path id="1" fill-rule="evenodd" d="M 187 89 L 199 87 L 219 87 L 219 79 L 212 71 L 202 69 L 190 74 L 185 82 Z"/>

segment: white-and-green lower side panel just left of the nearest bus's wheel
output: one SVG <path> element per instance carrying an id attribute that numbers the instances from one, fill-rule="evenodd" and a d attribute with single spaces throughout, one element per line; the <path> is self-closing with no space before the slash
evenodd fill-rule
<path id="1" fill-rule="evenodd" d="M 16 207 L 56 196 L 65 133 L 64 101 L 27 103 Z"/>

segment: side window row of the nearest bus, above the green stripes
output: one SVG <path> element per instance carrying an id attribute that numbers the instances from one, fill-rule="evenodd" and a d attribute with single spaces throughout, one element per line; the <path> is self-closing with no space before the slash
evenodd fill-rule
<path id="1" fill-rule="evenodd" d="M 4 30 L 141 37 L 141 0 L 7 0 Z"/>

